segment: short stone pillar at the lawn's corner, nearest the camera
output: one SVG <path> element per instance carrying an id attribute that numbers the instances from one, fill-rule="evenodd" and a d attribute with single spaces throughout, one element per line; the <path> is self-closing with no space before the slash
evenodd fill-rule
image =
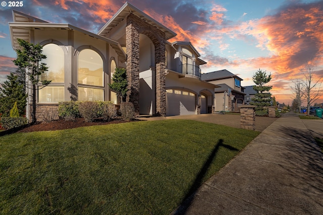
<path id="1" fill-rule="evenodd" d="M 240 124 L 241 128 L 248 130 L 255 130 L 256 128 L 256 114 L 254 105 L 240 106 Z"/>

